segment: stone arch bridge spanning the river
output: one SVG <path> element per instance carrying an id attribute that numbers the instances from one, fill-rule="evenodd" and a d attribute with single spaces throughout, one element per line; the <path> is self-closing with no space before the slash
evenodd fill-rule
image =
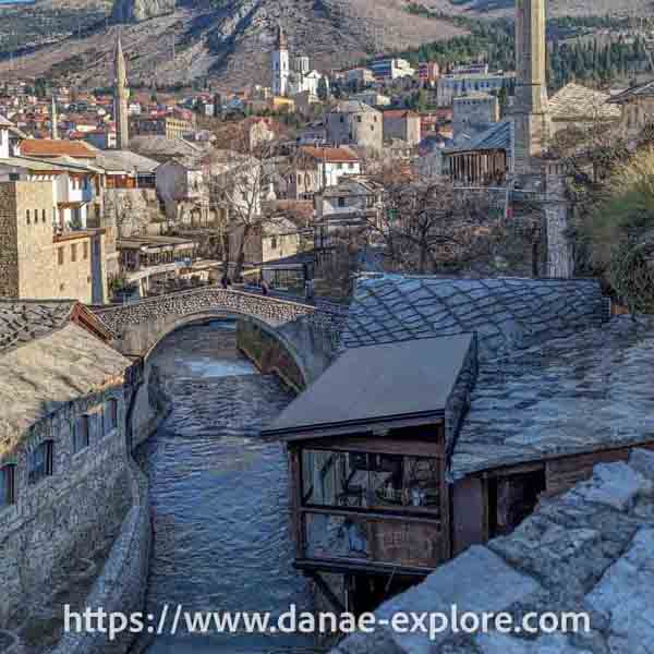
<path id="1" fill-rule="evenodd" d="M 311 384 L 329 365 L 346 322 L 344 310 L 337 307 L 220 287 L 96 308 L 94 313 L 113 332 L 118 350 L 145 359 L 161 339 L 185 325 L 238 318 L 239 347 L 263 372 L 277 372 L 296 388 Z"/>

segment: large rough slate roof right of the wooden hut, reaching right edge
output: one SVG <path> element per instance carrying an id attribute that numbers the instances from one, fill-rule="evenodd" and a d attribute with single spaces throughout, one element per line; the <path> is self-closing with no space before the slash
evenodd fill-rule
<path id="1" fill-rule="evenodd" d="M 480 366 L 451 475 L 654 441 L 654 318 L 629 316 Z"/>

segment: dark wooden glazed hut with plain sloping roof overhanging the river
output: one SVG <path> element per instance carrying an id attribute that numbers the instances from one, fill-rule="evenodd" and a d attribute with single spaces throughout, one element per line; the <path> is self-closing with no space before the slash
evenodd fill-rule
<path id="1" fill-rule="evenodd" d="M 295 565 L 328 596 L 320 576 L 343 574 L 340 602 L 365 610 L 450 558 L 447 451 L 474 362 L 471 335 L 346 352 L 266 429 L 288 444 Z"/>

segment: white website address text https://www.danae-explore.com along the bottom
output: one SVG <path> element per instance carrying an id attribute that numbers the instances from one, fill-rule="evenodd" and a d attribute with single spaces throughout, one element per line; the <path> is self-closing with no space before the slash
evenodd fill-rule
<path id="1" fill-rule="evenodd" d="M 525 613 L 519 619 L 506 611 L 469 611 L 452 605 L 449 611 L 398 611 L 390 617 L 372 613 L 311 613 L 295 605 L 280 615 L 268 611 L 190 611 L 183 605 L 165 604 L 158 614 L 107 611 L 87 607 L 82 611 L 64 606 L 64 631 L 68 633 L 102 633 L 113 641 L 123 633 L 153 635 L 211 633 L 373 633 L 390 629 L 396 633 L 422 633 L 435 640 L 444 632 L 536 634 L 588 632 L 586 613 Z"/>

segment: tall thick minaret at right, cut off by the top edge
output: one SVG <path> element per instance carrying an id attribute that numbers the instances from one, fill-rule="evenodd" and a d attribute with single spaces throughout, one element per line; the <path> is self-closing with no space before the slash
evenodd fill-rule
<path id="1" fill-rule="evenodd" d="M 549 106 L 545 61 L 546 0 L 516 0 L 516 172 L 535 172 L 549 137 Z"/>

